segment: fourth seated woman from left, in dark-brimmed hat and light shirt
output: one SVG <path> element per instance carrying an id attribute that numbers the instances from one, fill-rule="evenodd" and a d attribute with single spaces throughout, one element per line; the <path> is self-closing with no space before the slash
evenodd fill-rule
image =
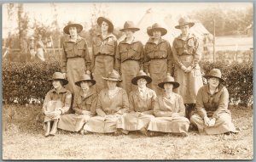
<path id="1" fill-rule="evenodd" d="M 151 81 L 152 79 L 143 71 L 131 80 L 131 83 L 137 86 L 137 89 L 129 94 L 131 113 L 119 118 L 117 128 L 147 134 L 149 121 L 154 118 L 153 104 L 156 98 L 155 92 L 146 86 Z"/>

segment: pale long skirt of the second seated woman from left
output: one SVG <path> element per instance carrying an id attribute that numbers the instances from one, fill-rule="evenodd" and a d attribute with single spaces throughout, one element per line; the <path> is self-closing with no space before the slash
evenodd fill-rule
<path id="1" fill-rule="evenodd" d="M 80 131 L 84 124 L 90 120 L 91 116 L 77 114 L 62 115 L 58 123 L 58 128 L 66 131 Z"/>

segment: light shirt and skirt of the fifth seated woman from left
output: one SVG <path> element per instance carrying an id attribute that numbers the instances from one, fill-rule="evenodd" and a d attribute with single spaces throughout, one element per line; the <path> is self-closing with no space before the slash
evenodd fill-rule
<path id="1" fill-rule="evenodd" d="M 179 116 L 172 117 L 173 113 Z M 166 98 L 166 94 L 156 98 L 154 102 L 155 118 L 150 121 L 149 131 L 188 133 L 189 120 L 185 118 L 183 98 L 173 93 L 173 98 Z"/>

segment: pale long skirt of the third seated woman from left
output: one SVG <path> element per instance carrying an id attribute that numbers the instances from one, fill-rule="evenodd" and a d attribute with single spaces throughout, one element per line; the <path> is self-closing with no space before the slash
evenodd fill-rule
<path id="1" fill-rule="evenodd" d="M 109 116 L 109 115 L 108 115 Z M 85 124 L 84 130 L 97 133 L 112 133 L 117 131 L 116 123 L 120 115 L 113 115 L 111 117 L 95 116 Z"/>

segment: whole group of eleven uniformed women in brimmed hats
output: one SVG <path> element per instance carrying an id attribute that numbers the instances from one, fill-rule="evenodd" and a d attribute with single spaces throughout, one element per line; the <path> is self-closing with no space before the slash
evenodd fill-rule
<path id="1" fill-rule="evenodd" d="M 43 106 L 46 137 L 55 135 L 57 128 L 81 134 L 140 131 L 187 136 L 189 123 L 200 133 L 237 132 L 220 70 L 211 70 L 205 75 L 207 85 L 202 84 L 199 42 L 189 33 L 194 25 L 189 18 L 179 20 L 176 28 L 182 33 L 172 47 L 161 38 L 167 31 L 157 23 L 148 28 L 145 46 L 135 38 L 140 29 L 132 21 L 120 30 L 126 37 L 119 44 L 111 20 L 99 17 L 97 23 L 101 34 L 93 38 L 91 57 L 78 35 L 83 26 L 64 27 L 70 37 L 63 43 L 61 73 L 49 80 L 54 89 Z"/>

